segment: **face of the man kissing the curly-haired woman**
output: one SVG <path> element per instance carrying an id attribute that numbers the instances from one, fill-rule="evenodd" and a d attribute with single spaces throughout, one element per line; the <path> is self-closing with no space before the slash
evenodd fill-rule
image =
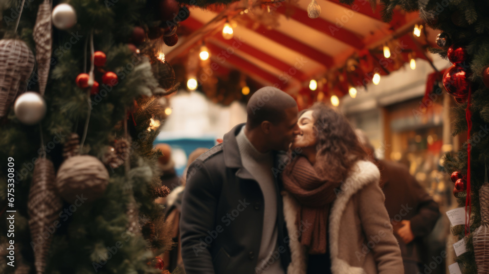
<path id="1" fill-rule="evenodd" d="M 277 125 L 270 126 L 269 144 L 272 150 L 288 150 L 290 143 L 298 133 L 297 107 L 285 109 L 285 117 Z"/>

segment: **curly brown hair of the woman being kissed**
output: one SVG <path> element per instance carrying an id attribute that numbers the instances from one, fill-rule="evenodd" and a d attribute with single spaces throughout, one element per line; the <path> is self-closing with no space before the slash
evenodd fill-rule
<path id="1" fill-rule="evenodd" d="M 352 125 L 343 114 L 321 102 L 301 111 L 299 117 L 306 111 L 312 111 L 317 136 L 314 169 L 330 181 L 343 181 L 356 161 L 367 158 Z"/>

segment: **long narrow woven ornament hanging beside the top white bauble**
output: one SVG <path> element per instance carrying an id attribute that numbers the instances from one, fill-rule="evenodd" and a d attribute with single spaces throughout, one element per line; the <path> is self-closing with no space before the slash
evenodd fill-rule
<path id="1" fill-rule="evenodd" d="M 51 3 L 44 0 L 37 11 L 36 24 L 32 36 L 36 42 L 36 62 L 39 77 L 39 93 L 44 95 L 47 84 L 47 76 L 51 62 L 51 47 L 53 39 L 51 36 Z"/>

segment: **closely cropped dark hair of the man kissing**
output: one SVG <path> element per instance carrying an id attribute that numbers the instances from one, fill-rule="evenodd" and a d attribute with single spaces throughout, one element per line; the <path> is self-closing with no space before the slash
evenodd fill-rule
<path id="1" fill-rule="evenodd" d="M 263 87 L 253 93 L 246 106 L 246 124 L 250 128 L 259 126 L 263 121 L 277 125 L 283 121 L 285 110 L 297 107 L 294 98 L 274 87 Z"/>

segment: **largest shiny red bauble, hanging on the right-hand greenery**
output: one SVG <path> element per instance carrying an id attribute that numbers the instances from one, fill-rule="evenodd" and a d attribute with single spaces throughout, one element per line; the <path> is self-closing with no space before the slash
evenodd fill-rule
<path id="1" fill-rule="evenodd" d="M 457 65 L 447 68 L 443 74 L 443 86 L 453 97 L 467 98 L 470 87 L 467 70 Z"/>

